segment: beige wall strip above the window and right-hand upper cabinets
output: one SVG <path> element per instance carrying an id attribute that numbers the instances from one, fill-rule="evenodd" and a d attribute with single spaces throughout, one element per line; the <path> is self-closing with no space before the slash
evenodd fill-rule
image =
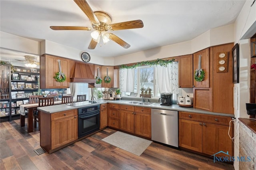
<path id="1" fill-rule="evenodd" d="M 114 65 L 187 55 L 213 45 L 230 42 L 234 42 L 234 24 L 208 30 L 200 36 L 187 42 L 156 47 L 145 51 L 115 57 Z"/>

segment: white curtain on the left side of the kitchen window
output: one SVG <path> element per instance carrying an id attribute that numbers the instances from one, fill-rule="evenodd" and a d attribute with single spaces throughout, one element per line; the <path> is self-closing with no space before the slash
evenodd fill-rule
<path id="1" fill-rule="evenodd" d="M 121 92 L 134 92 L 134 69 L 119 69 L 119 87 Z"/>

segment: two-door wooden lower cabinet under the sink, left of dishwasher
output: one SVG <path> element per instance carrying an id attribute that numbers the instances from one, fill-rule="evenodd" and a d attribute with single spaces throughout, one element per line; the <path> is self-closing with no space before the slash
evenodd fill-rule
<path id="1" fill-rule="evenodd" d="M 120 129 L 151 138 L 151 109 L 121 105 Z"/>

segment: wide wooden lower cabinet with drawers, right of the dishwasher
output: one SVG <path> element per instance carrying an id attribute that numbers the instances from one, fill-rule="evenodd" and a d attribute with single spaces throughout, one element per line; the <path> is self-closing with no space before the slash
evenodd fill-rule
<path id="1" fill-rule="evenodd" d="M 230 117 L 179 112 L 179 146 L 208 155 L 228 151 L 233 156 L 234 144 L 228 136 L 229 120 Z M 230 136 L 234 136 L 232 126 Z"/>

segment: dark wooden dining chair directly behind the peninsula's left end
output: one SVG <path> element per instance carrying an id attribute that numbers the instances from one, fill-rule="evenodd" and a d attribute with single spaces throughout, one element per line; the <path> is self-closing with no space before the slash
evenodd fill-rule
<path id="1" fill-rule="evenodd" d="M 54 105 L 54 97 L 40 97 L 38 101 L 38 107 Z M 36 128 L 36 122 L 38 122 L 38 128 L 40 130 L 40 111 L 36 110 L 33 115 L 34 127 Z"/>

